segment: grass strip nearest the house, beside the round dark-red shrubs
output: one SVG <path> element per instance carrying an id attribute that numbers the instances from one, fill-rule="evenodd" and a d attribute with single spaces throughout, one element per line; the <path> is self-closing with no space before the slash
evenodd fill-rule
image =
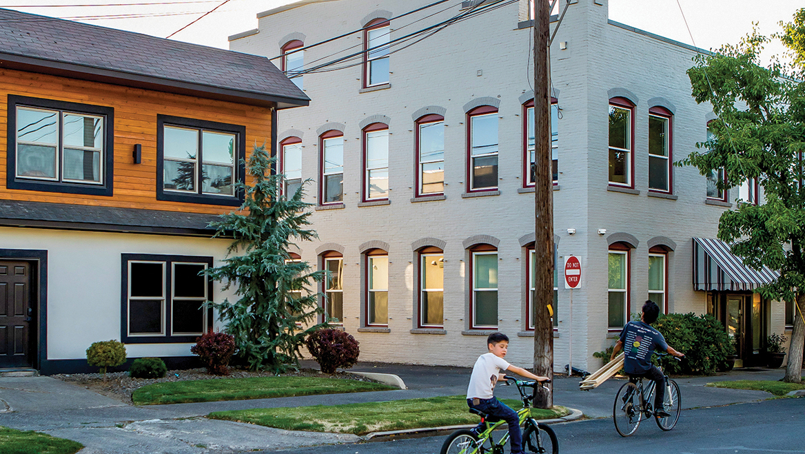
<path id="1" fill-rule="evenodd" d="M 326 377 L 221 378 L 142 386 L 134 390 L 131 400 L 138 404 L 212 402 L 396 389 L 381 383 Z"/>

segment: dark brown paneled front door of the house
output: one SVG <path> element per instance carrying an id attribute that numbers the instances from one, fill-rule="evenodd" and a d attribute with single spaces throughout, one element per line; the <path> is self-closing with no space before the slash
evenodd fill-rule
<path id="1" fill-rule="evenodd" d="M 0 367 L 31 366 L 31 264 L 0 262 Z"/>

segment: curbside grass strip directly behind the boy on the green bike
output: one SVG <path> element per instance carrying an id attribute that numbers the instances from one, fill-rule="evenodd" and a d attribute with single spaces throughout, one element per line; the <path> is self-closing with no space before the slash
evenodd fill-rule
<path id="1" fill-rule="evenodd" d="M 503 402 L 514 409 L 522 407 L 520 401 L 504 399 Z M 535 419 L 559 418 L 569 413 L 570 411 L 564 407 L 554 407 L 554 410 L 531 409 L 531 416 Z M 418 427 L 474 424 L 479 421 L 477 415 L 468 411 L 467 399 L 464 396 L 333 406 L 215 411 L 210 413 L 208 418 L 253 423 L 289 431 L 339 432 L 355 435 Z"/>

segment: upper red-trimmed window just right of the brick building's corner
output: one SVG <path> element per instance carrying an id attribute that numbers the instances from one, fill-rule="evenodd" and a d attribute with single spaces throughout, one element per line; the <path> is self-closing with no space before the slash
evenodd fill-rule
<path id="1" fill-rule="evenodd" d="M 609 100 L 609 184 L 634 188 L 634 104 Z"/>

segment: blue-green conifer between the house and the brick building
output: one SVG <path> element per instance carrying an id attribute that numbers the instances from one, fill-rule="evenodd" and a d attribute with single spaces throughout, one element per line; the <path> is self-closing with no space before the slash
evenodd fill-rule
<path id="1" fill-rule="evenodd" d="M 266 147 L 254 147 L 248 170 L 253 184 L 237 184 L 246 197 L 236 212 L 213 222 L 215 237 L 233 235 L 224 265 L 208 270 L 211 279 L 235 286 L 235 303 L 208 303 L 221 314 L 225 331 L 234 336 L 237 357 L 250 369 L 281 373 L 299 365 L 305 336 L 325 324 L 301 328 L 316 319 L 319 293 L 305 291 L 324 271 L 312 271 L 308 262 L 292 262 L 294 241 L 317 237 L 307 229 L 302 185 L 293 196 L 279 195 L 283 175 L 270 175 L 273 159 Z"/>

